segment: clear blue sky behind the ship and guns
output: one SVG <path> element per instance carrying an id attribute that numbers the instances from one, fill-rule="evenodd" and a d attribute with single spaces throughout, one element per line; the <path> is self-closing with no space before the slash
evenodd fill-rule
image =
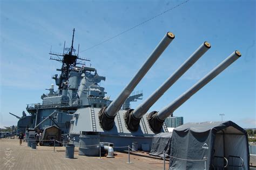
<path id="1" fill-rule="evenodd" d="M 184 1 L 4 1 L 0 2 L 0 127 L 16 125 L 9 112 L 22 115 L 26 104 L 41 103 L 41 95 L 59 73 L 49 60 L 52 51 L 70 45 L 80 51 L 129 29 Z M 184 122 L 232 120 L 256 127 L 255 113 L 255 1 L 188 1 L 136 29 L 80 53 L 90 58 L 111 99 L 117 97 L 167 31 L 176 38 L 140 81 L 146 99 L 203 42 L 212 47 L 150 111 L 159 111 L 206 73 L 239 50 L 242 57 L 208 83 L 174 116 Z M 140 101 L 132 103 L 136 107 Z"/>

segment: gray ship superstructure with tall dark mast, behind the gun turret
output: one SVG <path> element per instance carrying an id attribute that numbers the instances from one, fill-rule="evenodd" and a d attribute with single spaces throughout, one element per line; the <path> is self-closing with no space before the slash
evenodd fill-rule
<path id="1" fill-rule="evenodd" d="M 111 100 L 105 94 L 104 87 L 100 86 L 105 81 L 104 76 L 99 76 L 97 70 L 87 66 L 85 62 L 90 59 L 79 56 L 78 51 L 73 47 L 75 29 L 73 29 L 72 43 L 70 47 L 63 47 L 63 52 L 50 51 L 51 60 L 62 64 L 60 74 L 55 74 L 52 79 L 58 87 L 51 84 L 48 94 L 42 94 L 42 103 L 28 104 L 26 110 L 32 115 L 30 128 L 44 130 L 44 128 L 55 125 L 62 130 L 63 134 L 69 132 L 70 120 L 78 108 L 93 107 L 102 108 L 109 106 Z M 89 65 L 89 64 L 88 64 Z M 142 93 L 136 93 L 127 98 L 126 105 L 130 106 L 131 101 L 142 97 Z M 53 113 L 54 112 L 54 113 Z"/>

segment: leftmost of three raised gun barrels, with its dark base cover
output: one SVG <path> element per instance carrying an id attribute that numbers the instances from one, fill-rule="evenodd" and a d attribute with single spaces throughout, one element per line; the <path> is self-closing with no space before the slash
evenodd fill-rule
<path id="1" fill-rule="evenodd" d="M 151 66 L 156 62 L 161 53 L 164 52 L 166 47 L 172 42 L 173 39 L 173 33 L 167 32 L 164 38 L 156 47 L 156 49 L 154 49 L 149 58 L 146 60 L 146 62 L 143 64 L 140 70 L 136 73 L 136 75 L 132 78 L 130 83 L 126 85 L 126 87 L 119 94 L 119 96 L 114 101 L 112 101 L 109 107 L 103 107 L 102 110 L 99 111 L 98 115 L 100 126 L 102 126 L 104 130 L 111 130 L 113 128 L 114 117 L 124 104 L 127 97 L 130 96 L 131 92 L 137 86 L 139 81 L 142 80 L 147 71 L 149 71 Z"/>

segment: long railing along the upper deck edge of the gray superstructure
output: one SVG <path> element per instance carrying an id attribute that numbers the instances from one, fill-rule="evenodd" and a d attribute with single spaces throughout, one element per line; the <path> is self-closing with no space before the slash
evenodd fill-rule
<path id="1" fill-rule="evenodd" d="M 27 109 L 50 108 L 50 107 L 73 107 L 82 105 L 82 100 L 45 101 L 44 103 L 27 104 Z"/>

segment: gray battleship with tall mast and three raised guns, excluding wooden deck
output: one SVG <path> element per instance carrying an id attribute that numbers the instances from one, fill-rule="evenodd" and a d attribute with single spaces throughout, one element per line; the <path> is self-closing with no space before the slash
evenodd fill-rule
<path id="1" fill-rule="evenodd" d="M 148 113 L 154 103 L 200 57 L 211 49 L 211 44 L 203 42 L 156 91 L 133 109 L 130 103 L 143 97 L 142 91 L 134 92 L 134 89 L 165 49 L 173 42 L 174 34 L 167 32 L 164 35 L 144 64 L 114 100 L 110 100 L 110 97 L 106 96 L 105 88 L 100 86 L 100 82 L 105 81 L 106 77 L 100 76 L 96 68 L 84 63 L 90 62 L 90 59 L 79 56 L 79 45 L 77 52 L 74 49 L 74 36 L 75 29 L 73 29 L 71 46 L 66 48 L 64 43 L 62 53 L 52 51 L 49 53 L 51 60 L 62 63 L 61 69 L 57 69 L 60 74 L 52 76 L 58 90 L 55 91 L 55 85 L 52 84 L 50 89 L 46 89 L 49 93 L 42 94 L 42 103 L 28 104 L 26 110 L 29 112 L 29 116 L 24 111 L 22 118 L 10 114 L 19 119 L 18 131 L 26 133 L 28 135 L 26 139 L 38 130 L 43 131 L 44 140 L 56 139 L 59 144 L 62 144 L 62 142 L 65 144 L 68 136 L 72 139 L 73 144 L 79 146 L 79 155 L 86 156 L 96 156 L 99 152 L 102 152 L 98 144 L 102 144 L 103 149 L 112 153 L 112 155 L 108 155 L 111 158 L 113 157 L 113 147 L 115 147 L 115 151 L 124 151 L 127 149 L 124 146 L 132 145 L 136 151 L 138 149 L 140 151 L 150 151 L 151 146 L 153 146 L 153 137 L 160 133 L 169 132 L 165 125 L 165 119 L 173 116 L 178 107 L 241 57 L 239 51 L 232 52 L 223 62 L 172 103 L 163 107 L 160 111 Z M 240 131 L 239 133 L 245 134 L 246 137 L 247 134 L 231 121 L 223 124 L 226 125 L 227 131 L 234 127 Z M 219 123 L 213 125 L 218 127 Z M 209 126 L 212 126 L 212 124 Z M 178 130 L 179 128 L 177 128 Z M 31 138 L 33 138 L 33 135 L 31 135 Z M 244 137 L 242 138 L 244 140 Z M 46 142 L 41 142 L 41 144 L 47 145 Z M 203 148 L 207 148 L 205 144 Z M 244 160 L 248 161 L 249 159 L 245 156 Z M 213 162 L 207 162 L 207 167 L 212 165 Z"/>

